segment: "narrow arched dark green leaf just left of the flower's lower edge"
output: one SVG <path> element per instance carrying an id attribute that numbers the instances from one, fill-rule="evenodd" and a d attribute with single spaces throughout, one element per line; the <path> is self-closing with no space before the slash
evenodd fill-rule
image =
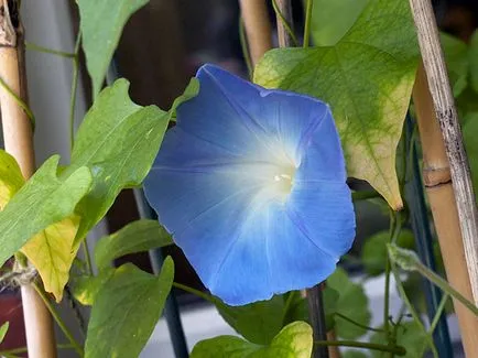
<path id="1" fill-rule="evenodd" d="M 138 220 L 110 236 L 104 237 L 95 247 L 95 261 L 99 270 L 128 253 L 148 251 L 172 245 L 171 235 L 157 220 Z"/>

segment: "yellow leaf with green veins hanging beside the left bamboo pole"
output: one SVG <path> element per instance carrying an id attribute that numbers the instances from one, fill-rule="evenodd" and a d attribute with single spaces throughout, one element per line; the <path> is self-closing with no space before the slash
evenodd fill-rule
<path id="1" fill-rule="evenodd" d="M 78 216 L 63 219 L 35 235 L 21 249 L 39 271 L 45 291 L 51 292 L 56 302 L 62 301 L 69 269 L 78 251 L 79 242 L 74 245 L 78 226 Z"/>

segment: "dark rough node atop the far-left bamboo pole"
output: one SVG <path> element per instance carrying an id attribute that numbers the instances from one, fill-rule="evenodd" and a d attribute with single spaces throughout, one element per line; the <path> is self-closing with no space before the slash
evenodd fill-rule
<path id="1" fill-rule="evenodd" d="M 0 46 L 17 47 L 19 28 L 17 0 L 0 0 Z"/>

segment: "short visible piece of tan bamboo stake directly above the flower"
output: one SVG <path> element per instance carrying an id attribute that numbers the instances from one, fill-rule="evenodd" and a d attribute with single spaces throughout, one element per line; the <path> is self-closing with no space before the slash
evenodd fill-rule
<path id="1" fill-rule="evenodd" d="M 264 0 L 240 0 L 252 65 L 272 48 L 272 29 Z"/>

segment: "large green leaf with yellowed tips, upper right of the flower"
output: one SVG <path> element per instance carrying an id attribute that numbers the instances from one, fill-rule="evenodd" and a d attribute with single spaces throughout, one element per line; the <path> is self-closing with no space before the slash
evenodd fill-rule
<path id="1" fill-rule="evenodd" d="M 328 102 L 348 175 L 368 181 L 391 207 L 399 209 L 402 199 L 395 150 L 417 59 L 409 3 L 370 0 L 336 45 L 272 50 L 257 66 L 254 82 Z"/>

